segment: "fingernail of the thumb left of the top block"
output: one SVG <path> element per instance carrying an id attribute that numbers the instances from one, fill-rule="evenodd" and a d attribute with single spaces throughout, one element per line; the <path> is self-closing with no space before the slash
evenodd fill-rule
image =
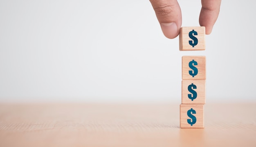
<path id="1" fill-rule="evenodd" d="M 161 23 L 161 28 L 167 38 L 173 39 L 178 35 L 178 28 L 175 22 Z"/>

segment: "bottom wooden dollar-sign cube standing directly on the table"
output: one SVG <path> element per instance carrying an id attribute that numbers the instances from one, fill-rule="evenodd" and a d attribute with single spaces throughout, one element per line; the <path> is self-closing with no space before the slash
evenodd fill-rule
<path id="1" fill-rule="evenodd" d="M 180 128 L 204 128 L 204 105 L 180 104 Z"/>

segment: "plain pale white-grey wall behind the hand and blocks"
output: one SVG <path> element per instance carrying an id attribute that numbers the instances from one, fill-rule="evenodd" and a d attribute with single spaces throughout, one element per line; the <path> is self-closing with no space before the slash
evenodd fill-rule
<path id="1" fill-rule="evenodd" d="M 180 0 L 199 26 L 200 0 Z M 181 58 L 207 57 L 207 101 L 255 101 L 256 9 L 222 0 L 206 50 L 180 52 L 148 0 L 1 0 L 0 102 L 181 101 Z"/>

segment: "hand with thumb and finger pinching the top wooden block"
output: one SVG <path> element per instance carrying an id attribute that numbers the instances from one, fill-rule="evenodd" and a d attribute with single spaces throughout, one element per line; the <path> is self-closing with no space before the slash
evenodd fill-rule
<path id="1" fill-rule="evenodd" d="M 164 35 L 170 39 L 177 37 L 182 24 L 180 5 L 177 0 L 150 0 L 150 2 Z M 220 12 L 221 0 L 201 0 L 201 3 L 199 24 L 205 26 L 206 34 L 210 34 Z"/>

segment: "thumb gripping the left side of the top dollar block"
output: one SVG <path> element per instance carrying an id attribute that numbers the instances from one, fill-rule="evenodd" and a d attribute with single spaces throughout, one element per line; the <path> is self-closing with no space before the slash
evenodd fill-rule
<path id="1" fill-rule="evenodd" d="M 182 16 L 177 0 L 150 0 L 157 20 L 167 38 L 173 39 L 180 33 Z"/>

